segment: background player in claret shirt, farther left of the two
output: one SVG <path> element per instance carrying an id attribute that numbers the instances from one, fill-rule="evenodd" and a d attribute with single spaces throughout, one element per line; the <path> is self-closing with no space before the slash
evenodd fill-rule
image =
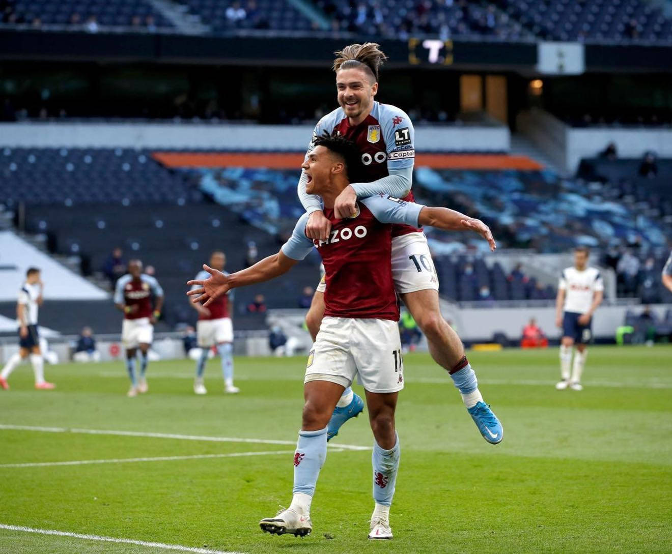
<path id="1" fill-rule="evenodd" d="M 152 295 L 154 308 L 152 309 Z M 142 262 L 128 262 L 128 274 L 120 277 L 114 291 L 114 304 L 124 312 L 122 324 L 122 344 L 126 349 L 126 368 L 130 377 L 128 396 L 148 390 L 145 373 L 147 352 L 154 337 L 154 324 L 161 316 L 163 289 L 158 281 L 142 273 Z M 136 353 L 140 349 L 140 379 L 135 371 Z"/>

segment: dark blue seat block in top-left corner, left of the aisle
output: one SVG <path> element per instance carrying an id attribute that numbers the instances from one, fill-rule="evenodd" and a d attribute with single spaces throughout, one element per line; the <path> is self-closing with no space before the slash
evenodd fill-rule
<path id="1" fill-rule="evenodd" d="M 73 26 L 85 28 L 91 17 L 98 26 L 151 30 L 173 28 L 151 3 L 144 0 L 5 0 L 2 23 Z M 89 29 L 91 30 L 91 29 Z"/>

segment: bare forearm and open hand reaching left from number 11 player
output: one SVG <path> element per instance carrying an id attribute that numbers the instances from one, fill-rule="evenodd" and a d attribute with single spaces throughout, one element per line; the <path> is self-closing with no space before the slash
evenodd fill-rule
<path id="1" fill-rule="evenodd" d="M 287 257 L 281 251 L 278 254 L 264 258 L 247 269 L 231 273 L 230 275 L 224 275 L 221 271 L 212 269 L 212 267 L 204 264 L 203 269 L 210 273 L 210 277 L 208 279 L 188 281 L 187 285 L 192 287 L 198 285 L 198 287 L 194 287 L 188 291 L 187 296 L 193 296 L 192 302 L 201 302 L 204 308 L 207 308 L 210 302 L 226 294 L 230 289 L 270 281 L 287 273 L 297 263 L 298 260 Z"/>

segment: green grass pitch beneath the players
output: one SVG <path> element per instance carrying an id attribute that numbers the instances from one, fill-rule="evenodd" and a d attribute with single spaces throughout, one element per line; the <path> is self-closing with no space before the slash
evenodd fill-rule
<path id="1" fill-rule="evenodd" d="M 581 392 L 554 389 L 557 349 L 469 357 L 504 441 L 486 443 L 448 375 L 408 355 L 392 541 L 366 539 L 370 451 L 335 448 L 370 447 L 366 417 L 330 446 L 312 535 L 259 530 L 290 502 L 303 358 L 236 359 L 236 396 L 210 361 L 204 397 L 188 360 L 151 363 L 138 398 L 125 396 L 122 363 L 47 366 L 56 391 L 32 389 L 22 365 L 0 390 L 0 524 L 242 553 L 672 552 L 672 347 L 592 347 Z M 169 459 L 146 460 L 157 457 Z M 87 460 L 105 463 L 25 465 Z M 0 528 L 0 552 L 169 551 Z"/>

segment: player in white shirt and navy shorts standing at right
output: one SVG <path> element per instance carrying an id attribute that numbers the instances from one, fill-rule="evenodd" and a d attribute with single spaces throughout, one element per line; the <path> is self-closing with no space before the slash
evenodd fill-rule
<path id="1" fill-rule="evenodd" d="M 562 380 L 556 389 L 567 387 L 575 391 L 583 389 L 581 374 L 588 355 L 587 344 L 592 338 L 593 314 L 602 302 L 604 284 L 599 270 L 588 267 L 588 248 L 579 246 L 574 250 L 574 266 L 562 271 L 556 297 L 556 325 L 562 327 L 560 342 L 560 375 Z M 572 367 L 572 350 L 577 345 Z M 571 369 L 571 373 L 570 373 Z"/>

